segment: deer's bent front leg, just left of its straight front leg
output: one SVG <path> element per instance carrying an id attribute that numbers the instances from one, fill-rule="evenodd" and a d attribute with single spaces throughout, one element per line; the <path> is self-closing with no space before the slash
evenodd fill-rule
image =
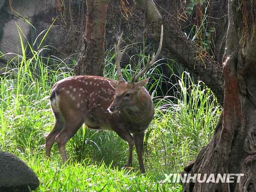
<path id="1" fill-rule="evenodd" d="M 132 135 L 126 131 L 125 129 L 121 128 L 115 128 L 114 130 L 123 140 L 125 140 L 128 145 L 129 145 L 129 155 L 128 155 L 128 160 L 127 163 L 124 167 L 130 167 L 132 163 L 132 151 L 133 151 L 133 146 L 134 146 L 134 138 Z"/>

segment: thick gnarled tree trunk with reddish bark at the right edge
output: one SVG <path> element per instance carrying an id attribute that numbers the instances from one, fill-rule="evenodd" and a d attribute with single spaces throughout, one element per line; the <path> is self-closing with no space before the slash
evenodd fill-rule
<path id="1" fill-rule="evenodd" d="M 184 173 L 244 174 L 239 183 L 182 183 L 184 192 L 256 191 L 256 6 L 230 0 L 223 63 L 224 111 L 209 144 Z"/>

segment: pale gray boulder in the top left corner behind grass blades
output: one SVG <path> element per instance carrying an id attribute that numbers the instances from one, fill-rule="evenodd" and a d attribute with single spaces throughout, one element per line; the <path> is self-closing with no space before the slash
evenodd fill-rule
<path id="1" fill-rule="evenodd" d="M 38 35 L 34 28 L 35 18 L 51 12 L 55 7 L 55 0 L 12 0 L 11 7 L 9 0 L 0 0 L 0 74 L 6 71 L 3 67 L 8 61 L 17 54 L 22 55 L 19 33 L 24 47 L 27 42 L 32 45 Z M 26 54 L 28 51 L 27 47 Z M 12 68 L 12 65 L 9 67 Z"/>

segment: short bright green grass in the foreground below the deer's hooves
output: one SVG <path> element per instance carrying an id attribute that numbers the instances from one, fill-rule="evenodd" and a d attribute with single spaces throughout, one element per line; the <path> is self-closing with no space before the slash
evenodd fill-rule
<path id="1" fill-rule="evenodd" d="M 40 162 L 38 158 L 32 162 L 32 169 L 41 176 L 38 191 L 172 191 L 167 184 L 154 181 L 150 173 L 138 175 L 104 163 L 93 165 L 83 161 L 61 166 L 56 162 Z"/>

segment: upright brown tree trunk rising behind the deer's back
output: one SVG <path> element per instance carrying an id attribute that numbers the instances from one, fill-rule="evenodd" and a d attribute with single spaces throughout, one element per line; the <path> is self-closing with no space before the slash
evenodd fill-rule
<path id="1" fill-rule="evenodd" d="M 108 4 L 109 0 L 86 0 L 84 43 L 75 66 L 75 75 L 103 76 Z"/>

